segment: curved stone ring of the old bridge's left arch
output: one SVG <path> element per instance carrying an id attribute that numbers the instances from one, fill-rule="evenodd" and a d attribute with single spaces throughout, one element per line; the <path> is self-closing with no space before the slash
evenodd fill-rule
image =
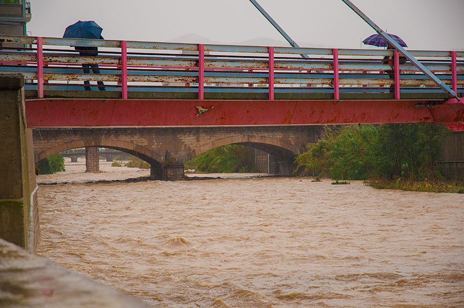
<path id="1" fill-rule="evenodd" d="M 62 144 L 57 144 L 50 148 L 47 148 L 39 153 L 36 153 L 36 161 L 41 161 L 42 159 L 60 153 L 65 150 L 74 149 L 78 147 L 87 147 L 87 146 L 98 146 L 98 147 L 105 147 L 111 148 L 119 151 L 126 152 L 131 154 L 135 157 L 140 158 L 143 161 L 146 161 L 148 164 L 159 164 L 162 159 L 162 156 L 155 151 L 150 150 L 148 147 L 145 147 L 140 144 L 134 144 L 131 142 L 117 140 L 117 139 L 101 139 L 101 140 L 94 140 L 94 139 L 81 139 L 81 140 L 74 140 Z"/>

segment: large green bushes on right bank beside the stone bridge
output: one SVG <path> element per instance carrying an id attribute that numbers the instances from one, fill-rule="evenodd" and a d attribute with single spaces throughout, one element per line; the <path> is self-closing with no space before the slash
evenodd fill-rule
<path id="1" fill-rule="evenodd" d="M 307 150 L 296 157 L 295 172 L 334 180 L 369 180 L 366 183 L 376 188 L 458 191 L 460 186 L 441 185 L 446 182 L 438 159 L 449 134 L 445 125 L 434 123 L 328 128 L 324 140 L 307 144 Z"/>

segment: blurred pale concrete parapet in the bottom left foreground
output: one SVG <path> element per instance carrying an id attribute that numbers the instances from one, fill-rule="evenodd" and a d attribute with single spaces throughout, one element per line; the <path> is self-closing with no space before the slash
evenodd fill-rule
<path id="1" fill-rule="evenodd" d="M 0 260 L 4 308 L 152 307 L 1 239 Z"/>

